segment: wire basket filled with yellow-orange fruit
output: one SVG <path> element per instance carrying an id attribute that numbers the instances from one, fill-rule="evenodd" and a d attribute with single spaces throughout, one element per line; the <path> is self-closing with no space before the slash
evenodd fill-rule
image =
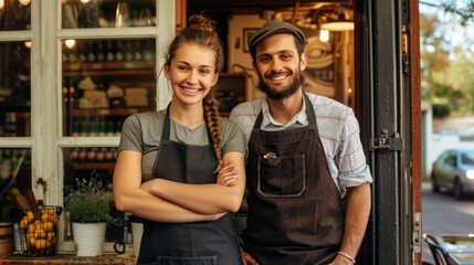
<path id="1" fill-rule="evenodd" d="M 20 220 L 19 246 L 25 256 L 53 256 L 56 254 L 57 227 L 61 206 L 40 206 L 41 218 L 27 211 Z"/>

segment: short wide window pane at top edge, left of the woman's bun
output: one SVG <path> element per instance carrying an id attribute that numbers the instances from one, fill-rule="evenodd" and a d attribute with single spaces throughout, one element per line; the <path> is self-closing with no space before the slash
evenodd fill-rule
<path id="1" fill-rule="evenodd" d="M 155 26 L 156 1 L 62 0 L 62 28 Z"/>

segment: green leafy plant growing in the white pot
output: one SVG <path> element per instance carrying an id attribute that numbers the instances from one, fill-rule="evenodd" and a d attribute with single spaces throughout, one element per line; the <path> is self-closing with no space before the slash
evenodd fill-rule
<path id="1" fill-rule="evenodd" d="M 71 221 L 78 223 L 96 223 L 113 221 L 109 202 L 105 190 L 94 176 L 76 179 L 77 188 L 65 198 L 65 210 L 70 212 Z"/>

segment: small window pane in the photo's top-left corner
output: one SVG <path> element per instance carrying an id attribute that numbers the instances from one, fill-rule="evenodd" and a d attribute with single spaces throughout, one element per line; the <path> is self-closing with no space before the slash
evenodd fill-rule
<path id="1" fill-rule="evenodd" d="M 0 0 L 0 31 L 30 30 L 31 0 Z"/>

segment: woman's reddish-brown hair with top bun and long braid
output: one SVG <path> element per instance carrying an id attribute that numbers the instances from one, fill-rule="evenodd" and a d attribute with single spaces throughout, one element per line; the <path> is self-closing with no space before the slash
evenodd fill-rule
<path id="1" fill-rule="evenodd" d="M 207 19 L 202 14 L 193 14 L 188 19 L 188 25 L 175 38 L 168 47 L 166 55 L 166 64 L 170 65 L 171 60 L 176 56 L 176 51 L 182 44 L 197 44 L 212 50 L 215 54 L 215 71 L 222 71 L 224 64 L 224 53 L 222 43 L 215 32 L 215 22 Z M 215 96 L 214 87 L 208 93 L 202 102 L 204 108 L 204 119 L 208 130 L 211 134 L 215 157 L 218 158 L 218 167 L 214 172 L 222 168 L 222 150 L 221 150 L 221 124 L 219 115 L 219 100 Z"/>

